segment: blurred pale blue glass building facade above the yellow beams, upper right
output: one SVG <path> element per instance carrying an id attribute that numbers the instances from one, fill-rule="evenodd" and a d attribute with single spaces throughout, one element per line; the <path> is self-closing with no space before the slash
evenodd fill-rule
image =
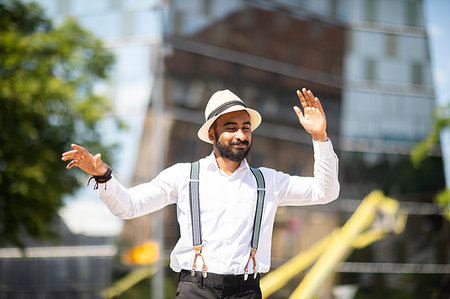
<path id="1" fill-rule="evenodd" d="M 434 108 L 422 1 L 346 2 L 342 149 L 408 154 Z"/>

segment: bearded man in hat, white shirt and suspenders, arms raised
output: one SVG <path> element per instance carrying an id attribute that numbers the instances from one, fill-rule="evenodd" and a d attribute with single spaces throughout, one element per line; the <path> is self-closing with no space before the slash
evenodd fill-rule
<path id="1" fill-rule="evenodd" d="M 216 92 L 206 106 L 198 137 L 213 145 L 213 153 L 200 160 L 198 179 L 192 177 L 193 165 L 178 163 L 127 190 L 112 177 L 100 154 L 73 144 L 62 160 L 71 160 L 67 168 L 77 166 L 92 174 L 100 198 L 120 218 L 177 204 L 180 239 L 170 256 L 171 268 L 180 272 L 177 298 L 261 298 L 257 273 L 270 268 L 277 207 L 328 203 L 339 194 L 338 159 L 327 137 L 322 105 L 309 90 L 297 91 L 297 96 L 304 114 L 297 106 L 294 111 L 313 138 L 314 177 L 249 168 L 245 157 L 261 116 L 229 90 Z M 262 174 L 259 180 L 255 172 Z"/>

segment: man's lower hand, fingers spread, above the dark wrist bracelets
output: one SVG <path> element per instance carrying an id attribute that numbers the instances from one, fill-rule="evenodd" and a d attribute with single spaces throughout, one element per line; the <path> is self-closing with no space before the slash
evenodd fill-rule
<path id="1" fill-rule="evenodd" d="M 104 175 L 108 171 L 108 165 L 102 161 L 100 154 L 94 156 L 77 144 L 71 144 L 71 147 L 73 150 L 63 153 L 61 157 L 63 161 L 72 160 L 67 164 L 67 169 L 77 166 L 84 172 L 96 176 Z"/>

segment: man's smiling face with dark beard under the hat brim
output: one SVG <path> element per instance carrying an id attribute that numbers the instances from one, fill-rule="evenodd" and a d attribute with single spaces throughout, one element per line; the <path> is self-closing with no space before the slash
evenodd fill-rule
<path id="1" fill-rule="evenodd" d="M 252 130 L 246 111 L 236 111 L 220 116 L 209 130 L 214 152 L 231 161 L 241 162 L 250 152 Z"/>

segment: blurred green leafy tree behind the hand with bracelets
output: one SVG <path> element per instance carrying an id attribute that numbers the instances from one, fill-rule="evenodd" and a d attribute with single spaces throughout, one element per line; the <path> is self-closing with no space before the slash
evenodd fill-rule
<path id="1" fill-rule="evenodd" d="M 55 27 L 35 3 L 0 0 L 0 243 L 52 236 L 64 195 L 79 186 L 61 153 L 71 142 L 108 156 L 99 121 L 112 106 L 93 84 L 113 56 L 68 19 Z M 116 124 L 119 122 L 116 120 Z"/>

